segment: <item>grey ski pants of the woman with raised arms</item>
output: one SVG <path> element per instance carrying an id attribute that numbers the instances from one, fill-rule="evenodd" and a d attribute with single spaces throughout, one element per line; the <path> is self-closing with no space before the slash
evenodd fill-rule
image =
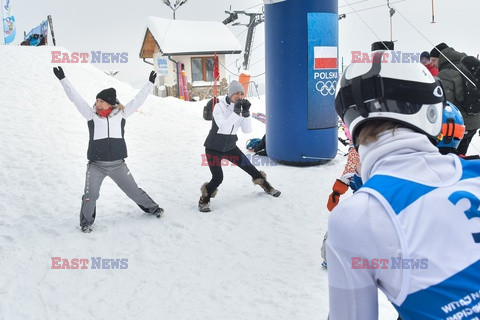
<path id="1" fill-rule="evenodd" d="M 143 211 L 153 213 L 158 209 L 158 204 L 138 187 L 125 164 L 125 160 L 90 161 L 87 164 L 85 190 L 82 197 L 82 208 L 80 209 L 80 226 L 90 226 L 95 221 L 100 186 L 107 176 L 112 178 L 120 189 L 135 201 Z"/>

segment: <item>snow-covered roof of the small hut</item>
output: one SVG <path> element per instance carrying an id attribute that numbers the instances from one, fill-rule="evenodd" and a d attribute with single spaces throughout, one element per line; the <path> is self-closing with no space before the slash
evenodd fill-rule
<path id="1" fill-rule="evenodd" d="M 144 49 L 149 32 L 164 55 L 237 54 L 242 51 L 238 39 L 221 22 L 148 17 L 140 56 L 148 54 Z"/>

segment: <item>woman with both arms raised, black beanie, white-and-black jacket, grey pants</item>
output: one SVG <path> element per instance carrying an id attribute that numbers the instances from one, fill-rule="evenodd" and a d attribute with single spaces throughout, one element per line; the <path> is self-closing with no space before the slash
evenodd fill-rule
<path id="1" fill-rule="evenodd" d="M 135 98 L 125 106 L 117 100 L 114 88 L 108 88 L 97 94 L 94 107 L 90 105 L 75 90 L 70 81 L 65 78 L 62 67 L 53 68 L 55 76 L 65 90 L 70 101 L 87 119 L 90 140 L 88 143 L 88 164 L 85 180 L 85 192 L 80 209 L 80 227 L 83 232 L 92 231 L 96 216 L 96 202 L 100 186 L 105 177 L 110 177 L 125 194 L 145 212 L 157 218 L 163 214 L 148 194 L 140 189 L 125 164 L 127 146 L 124 139 L 126 118 L 131 116 L 145 101 L 153 88 L 157 74 L 150 73 L 149 82 Z"/>

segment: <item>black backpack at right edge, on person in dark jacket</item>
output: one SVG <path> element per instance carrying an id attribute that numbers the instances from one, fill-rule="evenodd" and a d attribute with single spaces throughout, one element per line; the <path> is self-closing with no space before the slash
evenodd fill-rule
<path id="1" fill-rule="evenodd" d="M 460 60 L 460 63 L 460 70 L 468 77 L 466 79 L 462 76 L 465 97 L 463 111 L 469 115 L 477 115 L 480 113 L 480 60 L 466 56 Z"/>

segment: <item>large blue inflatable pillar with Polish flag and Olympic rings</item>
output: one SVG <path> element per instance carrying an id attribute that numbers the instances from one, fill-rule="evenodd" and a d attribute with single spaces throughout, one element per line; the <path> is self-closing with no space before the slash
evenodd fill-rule
<path id="1" fill-rule="evenodd" d="M 338 148 L 338 0 L 265 0 L 267 154 L 292 165 Z"/>

